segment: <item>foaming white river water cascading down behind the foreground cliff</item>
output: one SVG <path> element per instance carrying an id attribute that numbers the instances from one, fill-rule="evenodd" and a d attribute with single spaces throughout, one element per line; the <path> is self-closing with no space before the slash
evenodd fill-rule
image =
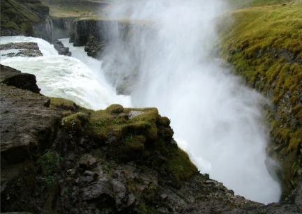
<path id="1" fill-rule="evenodd" d="M 78 48 L 78 53 L 75 53 L 81 56 L 79 58 L 82 61 L 80 61 L 74 57 L 59 55 L 53 45 L 40 38 L 1 37 L 1 44 L 12 42 L 38 43 L 43 56 L 1 57 L 1 63 L 36 75 L 38 86 L 41 89 L 40 93 L 50 97 L 73 100 L 77 104 L 91 109 L 103 109 L 112 103 L 130 106 L 130 98 L 116 95 L 115 89 L 107 84 L 100 72 L 99 61 L 88 56 L 85 57 L 83 47 Z"/>

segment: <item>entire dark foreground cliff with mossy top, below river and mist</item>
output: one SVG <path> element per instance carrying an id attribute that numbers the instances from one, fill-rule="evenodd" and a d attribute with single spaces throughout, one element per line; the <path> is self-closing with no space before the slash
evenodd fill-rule
<path id="1" fill-rule="evenodd" d="M 157 109 L 92 111 L 41 95 L 1 66 L 1 211 L 301 213 L 302 186 L 279 204 L 234 196 L 199 174 Z"/>

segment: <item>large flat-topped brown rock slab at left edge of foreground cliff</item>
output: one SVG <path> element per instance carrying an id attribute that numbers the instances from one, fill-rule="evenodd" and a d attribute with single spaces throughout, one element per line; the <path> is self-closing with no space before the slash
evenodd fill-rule
<path id="1" fill-rule="evenodd" d="M 1 167 L 50 146 L 60 116 L 49 103 L 38 93 L 1 85 Z"/>

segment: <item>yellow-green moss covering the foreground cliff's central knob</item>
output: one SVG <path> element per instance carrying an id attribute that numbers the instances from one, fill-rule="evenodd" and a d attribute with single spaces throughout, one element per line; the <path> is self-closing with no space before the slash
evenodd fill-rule
<path id="1" fill-rule="evenodd" d="M 160 116 L 156 108 L 110 105 L 93 111 L 62 98 L 51 98 L 50 107 L 63 112 L 61 125 L 69 136 L 88 136 L 96 146 L 108 146 L 107 155 L 114 160 L 136 161 L 157 169 L 168 175 L 174 185 L 197 174 L 188 154 L 172 144 L 170 121 Z"/>

